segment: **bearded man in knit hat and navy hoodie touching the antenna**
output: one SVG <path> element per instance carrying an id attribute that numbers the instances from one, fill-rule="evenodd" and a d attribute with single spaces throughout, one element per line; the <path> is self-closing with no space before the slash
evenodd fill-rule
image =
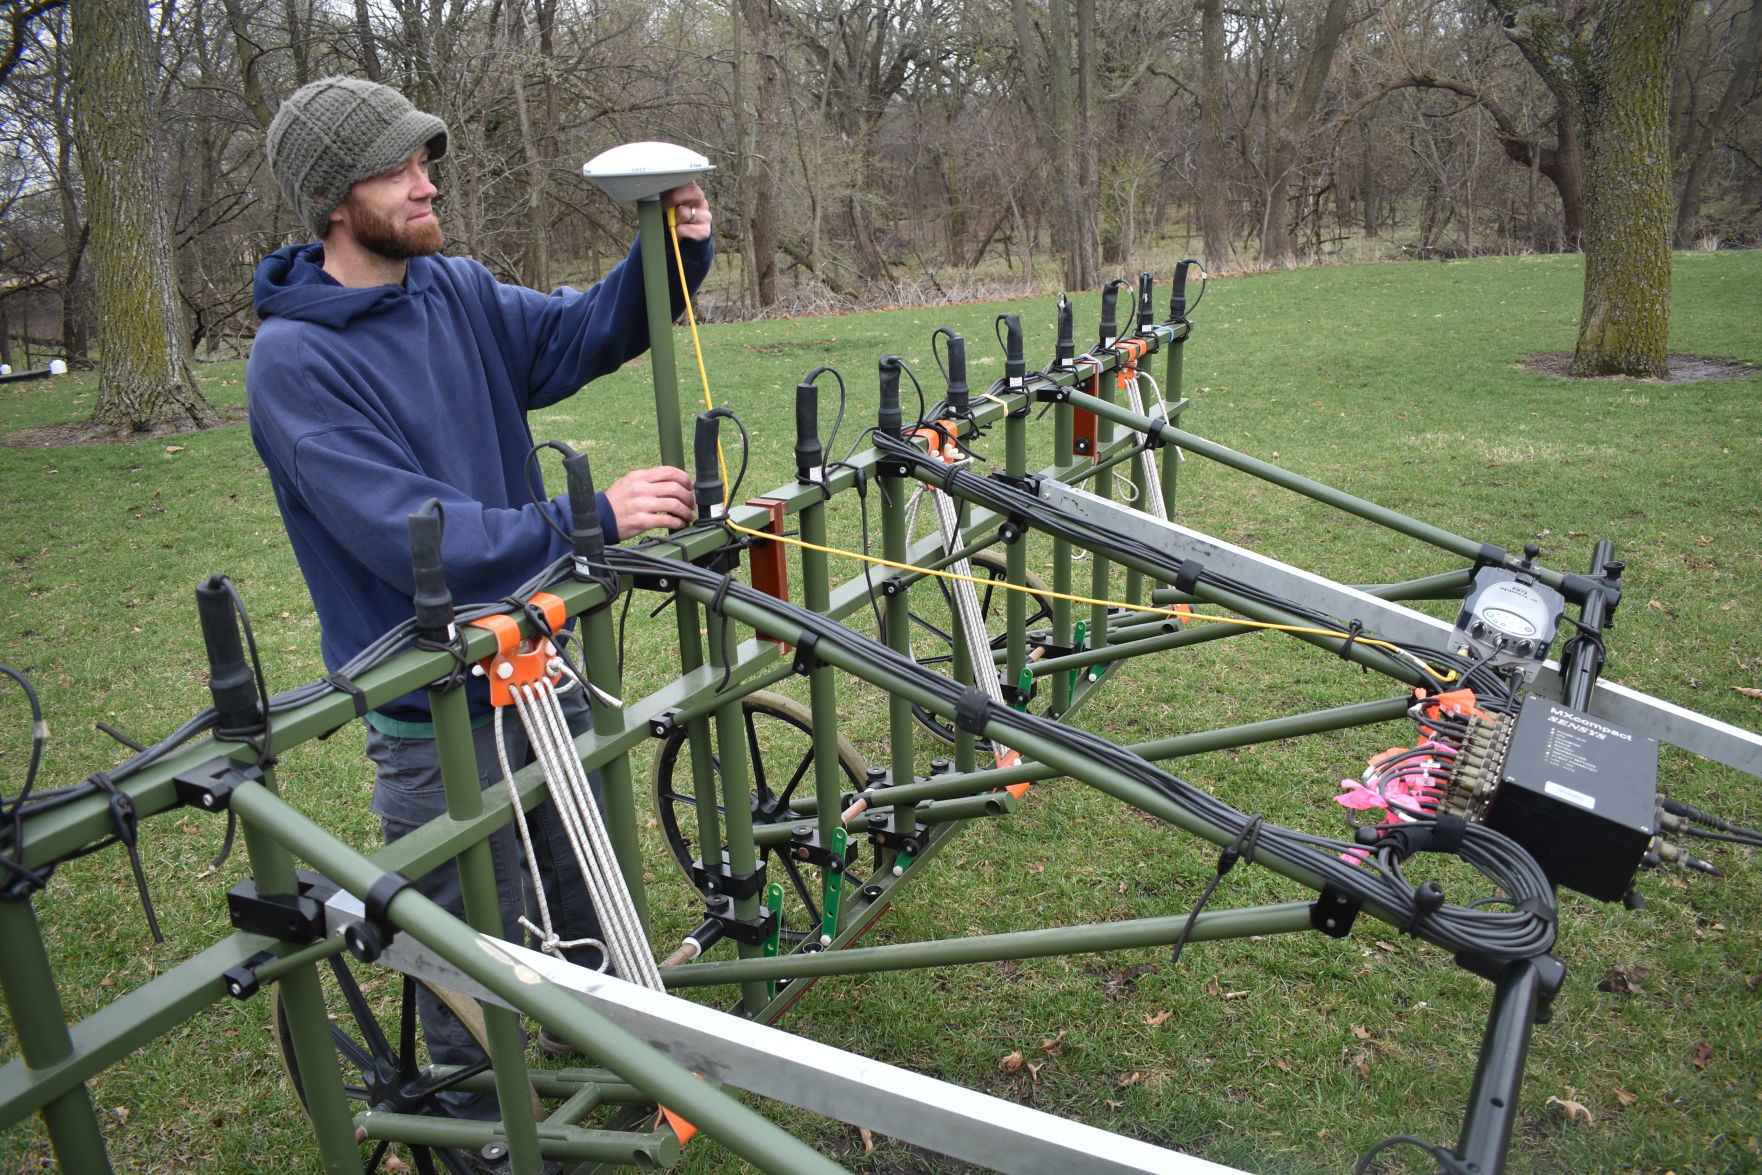
<path id="1" fill-rule="evenodd" d="M 412 615 L 405 520 L 428 499 L 444 511 L 442 560 L 458 602 L 495 601 L 564 555 L 567 495 L 532 502 L 527 412 L 576 393 L 648 349 L 641 241 L 603 282 L 553 294 L 495 282 L 478 262 L 440 255 L 428 166 L 448 129 L 388 86 L 326 78 L 294 92 L 268 134 L 270 169 L 314 243 L 277 250 L 257 268 L 263 326 L 245 384 L 250 432 L 322 625 L 335 671 Z M 710 210 L 696 183 L 664 194 L 678 210 L 680 254 L 696 287 L 708 271 Z M 670 264 L 668 271 L 675 268 Z M 671 291 L 673 310 L 684 294 Z M 536 474 L 536 470 L 534 470 Z M 691 477 L 659 467 L 624 474 L 599 495 L 608 539 L 694 514 Z M 555 525 L 553 525 L 555 523 Z M 488 692 L 469 685 L 483 786 L 500 782 Z M 569 696 L 585 729 L 585 701 Z M 426 694 L 366 715 L 377 766 L 374 812 L 386 840 L 446 810 Z M 507 722 L 515 766 L 530 761 Z M 532 814 L 534 858 L 562 941 L 597 937 L 560 821 Z M 492 839 L 504 928 L 518 935 L 523 879 L 513 828 Z M 453 865 L 419 888 L 462 909 Z M 527 895 L 530 897 L 530 895 Z M 597 965 L 592 948 L 571 958 Z M 423 990 L 430 1055 L 467 1064 L 481 1053 Z M 460 1117 L 495 1117 L 493 1097 L 448 1094 Z"/>

